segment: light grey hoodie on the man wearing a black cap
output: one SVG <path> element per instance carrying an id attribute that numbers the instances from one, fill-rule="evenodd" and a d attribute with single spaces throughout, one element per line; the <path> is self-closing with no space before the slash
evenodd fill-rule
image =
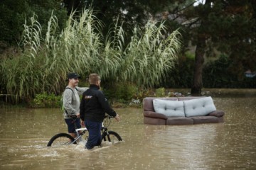
<path id="1" fill-rule="evenodd" d="M 66 88 L 70 88 L 69 86 L 66 86 Z M 80 113 L 80 95 L 82 95 L 83 92 L 85 92 L 87 87 L 78 87 L 76 86 L 74 89 L 65 89 L 63 93 L 63 107 L 65 108 L 65 111 L 63 113 L 65 119 L 69 119 L 68 115 L 76 115 L 77 113 Z M 72 91 L 71 91 L 72 90 Z"/>

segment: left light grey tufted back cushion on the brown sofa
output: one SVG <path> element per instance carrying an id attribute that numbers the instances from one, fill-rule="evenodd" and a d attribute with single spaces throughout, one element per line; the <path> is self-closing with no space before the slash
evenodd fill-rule
<path id="1" fill-rule="evenodd" d="M 183 101 L 153 100 L 154 110 L 167 117 L 185 117 Z"/>

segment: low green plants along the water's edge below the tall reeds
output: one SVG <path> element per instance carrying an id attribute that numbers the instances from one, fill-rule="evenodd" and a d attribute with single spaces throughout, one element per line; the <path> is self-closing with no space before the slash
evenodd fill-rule
<path id="1" fill-rule="evenodd" d="M 137 89 L 135 85 L 120 84 L 112 90 L 105 90 L 105 94 L 113 108 L 142 108 L 142 101 L 145 97 L 170 97 L 180 96 L 179 92 L 171 89 Z M 4 96 L 1 96 L 3 99 Z M 11 104 L 8 101 L 0 101 L 0 108 L 60 108 L 61 95 L 36 94 L 28 103 Z"/>

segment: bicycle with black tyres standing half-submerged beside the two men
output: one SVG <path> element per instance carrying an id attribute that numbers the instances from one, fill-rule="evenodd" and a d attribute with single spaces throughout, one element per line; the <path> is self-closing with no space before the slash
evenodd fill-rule
<path id="1" fill-rule="evenodd" d="M 75 118 L 73 119 L 75 120 Z M 109 115 L 105 115 L 105 121 L 104 123 L 102 123 L 102 141 L 108 141 L 114 144 L 118 141 L 122 141 L 122 137 L 120 137 L 120 135 L 117 132 L 107 129 L 111 124 L 111 118 L 113 117 Z M 75 125 L 75 121 L 74 121 L 74 125 Z M 78 142 L 82 141 L 82 135 L 85 135 L 87 131 L 88 131 L 87 128 L 78 128 L 75 125 L 75 132 L 77 133 L 77 137 L 74 138 L 68 133 L 58 133 L 57 135 L 54 135 L 52 138 L 50 138 L 47 144 L 47 147 L 78 144 Z"/>

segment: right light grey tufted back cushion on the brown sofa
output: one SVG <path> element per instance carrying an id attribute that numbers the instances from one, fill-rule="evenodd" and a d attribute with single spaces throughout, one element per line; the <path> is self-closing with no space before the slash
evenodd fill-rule
<path id="1" fill-rule="evenodd" d="M 208 115 L 216 111 L 211 97 L 196 98 L 183 102 L 186 117 Z"/>

